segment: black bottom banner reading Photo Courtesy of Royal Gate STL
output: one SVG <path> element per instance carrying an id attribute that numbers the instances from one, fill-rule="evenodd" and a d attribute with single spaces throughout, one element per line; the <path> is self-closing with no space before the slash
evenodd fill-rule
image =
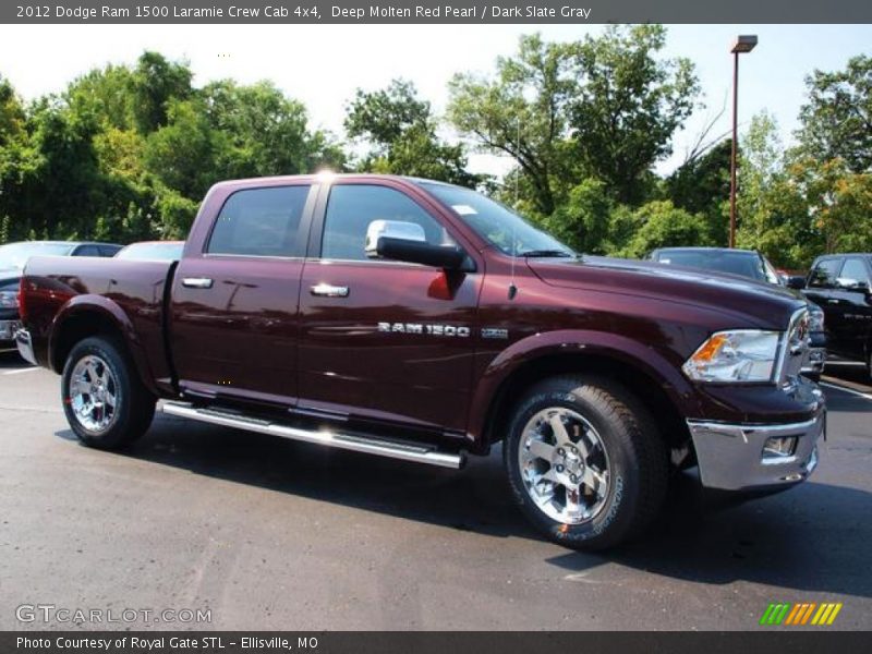
<path id="1" fill-rule="evenodd" d="M 2 632 L 4 654 L 829 654 L 868 652 L 869 632 L 787 631 L 755 632 L 160 632 L 69 631 Z"/>

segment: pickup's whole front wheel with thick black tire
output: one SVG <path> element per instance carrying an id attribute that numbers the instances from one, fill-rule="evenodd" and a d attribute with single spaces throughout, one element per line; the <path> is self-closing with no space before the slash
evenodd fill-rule
<path id="1" fill-rule="evenodd" d="M 557 470 L 566 474 L 569 470 L 569 463 L 562 467 L 554 462 L 542 463 L 545 459 L 533 457 L 534 463 L 524 463 L 522 471 L 520 457 L 529 457 L 526 452 L 530 451 L 530 432 L 525 437 L 525 427 L 529 424 L 540 425 L 533 433 L 543 441 L 553 441 L 555 438 L 556 431 L 548 426 L 550 423 L 540 420 L 543 414 L 569 416 L 570 421 L 574 420 L 573 416 L 581 416 L 586 426 L 582 427 L 582 432 L 574 431 L 576 443 L 581 440 L 578 437 L 580 433 L 588 434 L 586 438 L 591 438 L 590 434 L 593 433 L 600 441 L 600 446 L 594 445 L 593 448 L 586 443 L 590 457 L 582 457 L 582 460 L 596 470 L 597 467 L 591 463 L 593 458 L 598 457 L 600 472 L 602 469 L 608 470 L 608 475 L 603 475 L 608 482 L 597 484 L 601 488 L 597 492 L 583 486 L 572 492 L 574 505 L 578 505 L 578 498 L 583 497 L 591 500 L 590 505 L 598 506 L 596 512 L 594 507 L 589 507 L 590 516 L 581 518 L 578 523 L 560 521 L 549 516 L 547 508 L 540 508 L 532 497 L 535 491 L 528 491 L 524 481 L 531 474 L 541 474 L 531 471 L 531 468 L 542 467 L 540 470 L 547 470 L 549 474 L 556 474 L 554 471 Z M 570 440 L 572 438 L 570 436 Z M 521 452 L 522 447 L 525 452 Z M 572 449 L 571 443 L 569 449 Z M 595 453 L 602 450 L 605 455 Z M 573 452 L 577 451 L 573 449 Z M 559 461 L 566 463 L 567 459 Z M 614 547 L 643 532 L 661 510 L 669 476 L 667 449 L 653 416 L 626 388 L 600 376 L 554 377 L 531 388 L 510 417 L 509 433 L 504 444 L 504 463 L 512 495 L 535 528 L 555 543 L 586 550 Z M 578 463 L 573 465 L 578 467 Z M 574 470 L 578 471 L 578 468 Z M 548 488 L 548 483 L 538 487 Z M 564 493 L 565 504 L 569 504 L 570 492 L 567 488 L 550 486 L 553 498 L 559 498 L 560 493 Z M 578 516 L 576 520 L 579 520 Z"/>

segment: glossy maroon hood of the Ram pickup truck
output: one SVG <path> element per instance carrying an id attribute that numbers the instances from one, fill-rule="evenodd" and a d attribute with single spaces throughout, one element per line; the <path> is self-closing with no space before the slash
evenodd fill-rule
<path id="1" fill-rule="evenodd" d="M 763 329 L 785 329 L 794 312 L 806 305 L 804 300 L 778 286 L 671 264 L 584 256 L 531 257 L 528 265 L 550 286 L 705 306 L 730 315 L 737 328 L 753 322 Z"/>

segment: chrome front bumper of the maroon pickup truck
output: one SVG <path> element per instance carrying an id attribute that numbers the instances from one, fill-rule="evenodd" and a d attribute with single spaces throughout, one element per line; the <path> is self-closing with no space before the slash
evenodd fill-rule
<path id="1" fill-rule="evenodd" d="M 752 491 L 787 487 L 806 480 L 818 467 L 818 439 L 826 429 L 826 411 L 790 424 L 729 424 L 688 420 L 700 477 L 706 488 Z M 772 438 L 796 437 L 789 456 L 765 457 Z"/>

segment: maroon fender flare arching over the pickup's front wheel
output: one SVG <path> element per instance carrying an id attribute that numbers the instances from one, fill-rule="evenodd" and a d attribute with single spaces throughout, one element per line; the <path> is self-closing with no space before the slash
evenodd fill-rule
<path id="1" fill-rule="evenodd" d="M 654 380 L 682 414 L 691 414 L 695 407 L 693 386 L 657 349 L 617 334 L 560 329 L 516 341 L 491 362 L 473 395 L 468 437 L 482 444 L 491 409 L 504 384 L 522 366 L 555 354 L 588 354 L 618 360 Z"/>

